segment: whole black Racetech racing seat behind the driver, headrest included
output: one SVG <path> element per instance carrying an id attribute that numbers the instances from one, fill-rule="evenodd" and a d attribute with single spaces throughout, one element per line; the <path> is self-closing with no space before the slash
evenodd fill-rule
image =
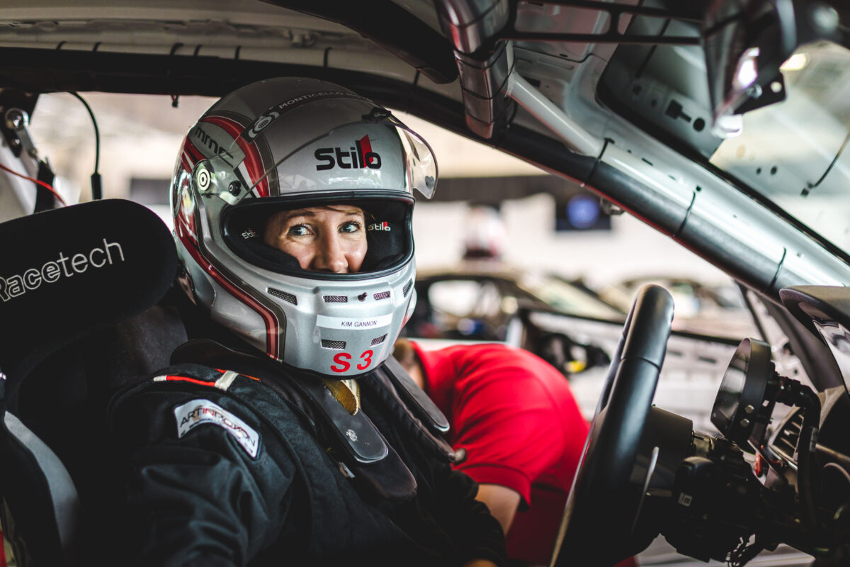
<path id="1" fill-rule="evenodd" d="M 156 304 L 176 271 L 173 240 L 147 208 L 107 200 L 15 218 L 0 241 L 4 536 L 21 565 L 90 564 L 75 553 L 114 496 L 106 400 L 185 340 Z"/>

